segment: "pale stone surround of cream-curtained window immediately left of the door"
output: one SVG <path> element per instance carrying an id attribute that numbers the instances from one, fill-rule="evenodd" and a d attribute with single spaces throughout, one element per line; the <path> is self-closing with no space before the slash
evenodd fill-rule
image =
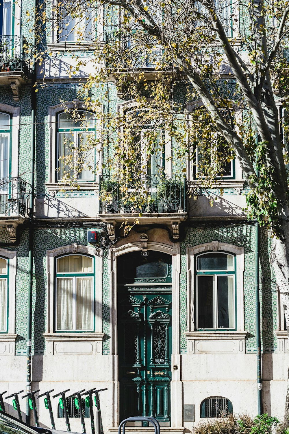
<path id="1" fill-rule="evenodd" d="M 94 247 L 71 244 L 69 246 L 57 247 L 46 251 L 47 257 L 47 327 L 46 333 L 53 333 L 54 330 L 54 258 L 67 253 L 84 254 L 95 256 Z M 102 258 L 95 256 L 95 332 L 102 332 Z M 85 333 L 85 332 L 84 332 Z M 82 334 L 82 333 L 81 333 Z"/>

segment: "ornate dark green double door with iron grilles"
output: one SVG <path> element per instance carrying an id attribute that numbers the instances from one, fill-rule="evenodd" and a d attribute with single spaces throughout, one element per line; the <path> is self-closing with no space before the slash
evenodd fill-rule
<path id="1" fill-rule="evenodd" d="M 120 421 L 170 424 L 172 287 L 118 286 Z"/>

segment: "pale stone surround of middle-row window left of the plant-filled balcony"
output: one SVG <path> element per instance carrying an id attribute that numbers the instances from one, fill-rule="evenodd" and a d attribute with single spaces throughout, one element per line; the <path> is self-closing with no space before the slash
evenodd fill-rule
<path id="1" fill-rule="evenodd" d="M 48 120 L 49 120 L 49 181 L 48 184 L 57 184 L 57 181 L 55 182 L 55 170 L 57 168 L 55 162 L 56 162 L 56 148 L 57 148 L 57 116 L 58 113 L 62 112 L 64 109 L 77 109 L 77 110 L 84 110 L 84 111 L 91 111 L 93 112 L 92 108 L 87 107 L 84 105 L 82 101 L 79 101 L 78 99 L 75 99 L 74 101 L 68 101 L 65 103 L 60 103 L 56 105 L 52 105 L 48 109 Z M 101 107 L 103 110 L 103 106 Z M 101 128 L 100 120 L 95 120 L 96 125 L 96 131 L 97 128 Z M 98 165 L 100 161 L 102 161 L 102 154 L 101 151 L 98 151 L 99 159 L 98 159 Z M 97 163 L 96 163 L 97 164 Z M 98 182 L 98 176 L 101 174 L 101 167 L 99 167 L 99 171 L 94 174 L 94 181 L 89 180 L 88 183 L 95 184 L 95 182 Z M 85 181 L 80 181 L 79 185 L 85 184 Z M 59 183 L 59 190 L 62 189 L 62 184 Z M 54 188 L 56 190 L 56 188 Z"/>

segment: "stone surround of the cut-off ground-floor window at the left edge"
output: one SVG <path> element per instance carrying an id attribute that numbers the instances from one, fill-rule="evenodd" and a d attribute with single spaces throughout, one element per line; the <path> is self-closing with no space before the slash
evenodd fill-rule
<path id="1" fill-rule="evenodd" d="M 16 291 L 16 272 L 17 272 L 17 252 L 16 250 L 0 249 L 0 256 L 9 259 L 8 333 L 10 335 L 14 335 L 15 334 L 15 291 Z M 7 338 L 6 340 L 9 341 L 11 340 L 11 337 L 8 334 L 1 333 L 1 337 L 3 336 Z"/>

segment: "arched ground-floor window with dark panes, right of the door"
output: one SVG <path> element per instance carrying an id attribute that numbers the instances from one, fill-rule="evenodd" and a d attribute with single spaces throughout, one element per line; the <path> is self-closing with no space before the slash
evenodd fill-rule
<path id="1" fill-rule="evenodd" d="M 236 329 L 235 256 L 196 256 L 197 329 Z"/>

